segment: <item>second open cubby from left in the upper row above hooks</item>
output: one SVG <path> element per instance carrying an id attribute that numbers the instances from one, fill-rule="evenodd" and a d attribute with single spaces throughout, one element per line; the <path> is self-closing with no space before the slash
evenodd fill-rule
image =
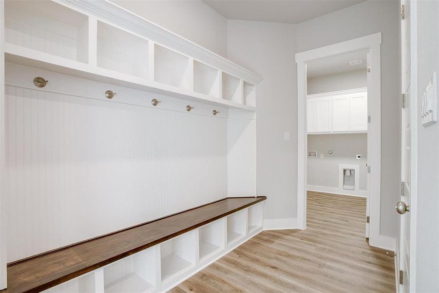
<path id="1" fill-rule="evenodd" d="M 105 22 L 97 22 L 97 66 L 148 78 L 148 41 Z"/>

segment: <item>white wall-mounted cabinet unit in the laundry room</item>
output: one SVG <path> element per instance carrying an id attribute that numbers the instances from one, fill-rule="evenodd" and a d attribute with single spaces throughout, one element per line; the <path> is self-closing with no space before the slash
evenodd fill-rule
<path id="1" fill-rule="evenodd" d="M 367 89 L 308 95 L 307 133 L 367 131 Z"/>

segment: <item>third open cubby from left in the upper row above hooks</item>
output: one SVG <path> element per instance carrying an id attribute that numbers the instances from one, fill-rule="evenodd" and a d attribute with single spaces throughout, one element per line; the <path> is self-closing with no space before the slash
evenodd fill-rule
<path id="1" fill-rule="evenodd" d="M 154 81 L 189 88 L 189 58 L 154 44 Z"/>

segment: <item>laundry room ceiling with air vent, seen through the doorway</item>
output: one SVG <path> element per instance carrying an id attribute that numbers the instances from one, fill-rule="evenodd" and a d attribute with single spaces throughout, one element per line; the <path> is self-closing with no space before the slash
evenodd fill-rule
<path id="1" fill-rule="evenodd" d="M 349 64 L 349 61 L 359 59 L 363 62 L 362 64 Z M 308 78 L 312 78 L 328 74 L 356 71 L 360 69 L 365 70 L 366 67 L 366 52 L 363 51 L 308 63 L 306 66 L 306 76 Z"/>

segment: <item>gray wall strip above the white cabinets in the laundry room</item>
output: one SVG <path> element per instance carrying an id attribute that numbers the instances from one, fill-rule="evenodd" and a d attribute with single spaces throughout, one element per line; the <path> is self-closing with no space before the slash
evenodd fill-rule
<path id="1" fill-rule="evenodd" d="M 308 95 L 367 86 L 365 70 L 328 74 L 307 79 Z"/>

